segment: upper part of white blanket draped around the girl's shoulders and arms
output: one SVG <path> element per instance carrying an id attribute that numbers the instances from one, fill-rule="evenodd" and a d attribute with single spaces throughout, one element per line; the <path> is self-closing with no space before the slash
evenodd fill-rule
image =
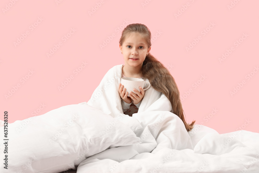
<path id="1" fill-rule="evenodd" d="M 93 92 L 88 105 L 102 110 L 104 113 L 117 117 L 123 114 L 121 107 L 121 97 L 119 95 L 119 83 L 122 77 L 121 65 L 113 66 L 103 77 L 99 86 Z M 146 79 L 149 81 L 148 79 Z M 138 113 L 144 111 L 169 111 L 173 113 L 172 106 L 168 98 L 161 92 L 156 91 L 152 86 L 145 90 L 145 95 L 141 101 Z"/>

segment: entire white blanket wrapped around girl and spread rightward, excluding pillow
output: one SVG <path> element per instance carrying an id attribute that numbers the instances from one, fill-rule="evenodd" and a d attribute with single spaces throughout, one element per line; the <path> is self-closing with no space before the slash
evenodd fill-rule
<path id="1" fill-rule="evenodd" d="M 118 92 L 122 66 L 114 66 L 105 74 L 88 101 L 88 105 L 115 118 L 123 116 Z M 141 143 L 88 157 L 79 164 L 77 173 L 259 172 L 258 133 L 241 130 L 218 134 L 201 125 L 187 132 L 182 120 L 172 113 L 170 101 L 153 87 L 145 91 L 138 113 L 124 118 Z"/>

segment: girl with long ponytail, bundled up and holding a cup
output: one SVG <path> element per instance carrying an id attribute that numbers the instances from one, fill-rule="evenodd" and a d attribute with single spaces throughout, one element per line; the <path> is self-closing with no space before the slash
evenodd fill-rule
<path id="1" fill-rule="evenodd" d="M 174 114 L 180 117 L 186 130 L 190 131 L 195 121 L 191 124 L 186 123 L 180 92 L 174 78 L 168 69 L 149 53 L 151 32 L 147 26 L 139 23 L 129 24 L 122 31 L 119 46 L 125 64 L 122 68 L 122 77 L 148 79 L 156 91 L 162 92 L 170 100 Z M 118 89 L 123 112 L 130 116 L 137 113 L 145 94 L 143 88 L 139 88 L 140 92 L 135 90 L 136 94 L 131 92 L 129 97 L 128 92 L 125 93 L 126 88 L 121 83 Z"/>

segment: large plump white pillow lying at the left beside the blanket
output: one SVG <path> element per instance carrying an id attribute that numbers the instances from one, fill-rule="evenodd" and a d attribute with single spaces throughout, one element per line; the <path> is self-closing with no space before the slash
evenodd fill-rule
<path id="1" fill-rule="evenodd" d="M 105 149 L 140 143 L 129 127 L 87 102 L 10 123 L 8 138 L 8 169 L 3 172 L 76 169 L 87 157 Z"/>

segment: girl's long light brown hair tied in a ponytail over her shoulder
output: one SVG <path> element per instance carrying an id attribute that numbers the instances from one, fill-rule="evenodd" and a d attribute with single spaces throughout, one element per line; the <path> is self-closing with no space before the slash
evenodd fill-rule
<path id="1" fill-rule="evenodd" d="M 124 40 L 134 32 L 141 34 L 141 36 L 146 40 L 149 49 L 151 46 L 151 32 L 146 25 L 140 23 L 129 24 L 125 27 L 119 40 L 120 45 L 122 46 Z M 143 62 L 141 76 L 142 78 L 148 79 L 156 91 L 162 92 L 168 100 L 170 100 L 173 113 L 183 121 L 187 132 L 190 131 L 194 126 L 195 120 L 193 120 L 191 124 L 188 124 L 185 121 L 180 92 L 175 83 L 175 79 L 172 77 L 168 69 L 152 54 L 150 54 L 150 52 Z"/>

